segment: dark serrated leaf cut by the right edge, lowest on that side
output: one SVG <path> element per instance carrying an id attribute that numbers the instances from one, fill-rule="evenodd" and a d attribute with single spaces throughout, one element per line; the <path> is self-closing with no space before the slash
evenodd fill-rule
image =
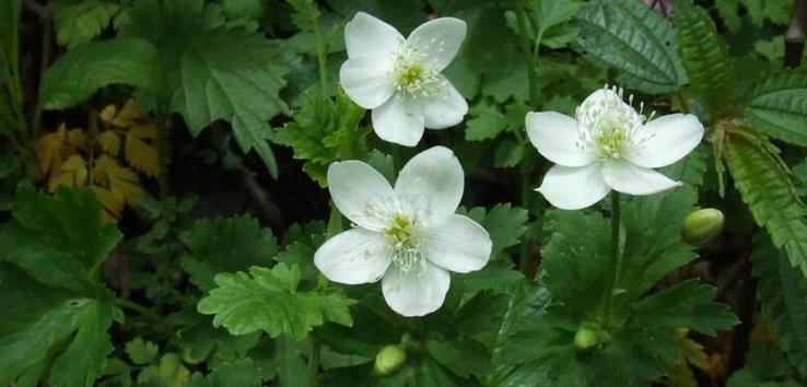
<path id="1" fill-rule="evenodd" d="M 807 337 L 802 335 L 807 329 L 807 280 L 768 238 L 755 244 L 751 263 L 762 314 L 787 357 L 807 376 Z"/>

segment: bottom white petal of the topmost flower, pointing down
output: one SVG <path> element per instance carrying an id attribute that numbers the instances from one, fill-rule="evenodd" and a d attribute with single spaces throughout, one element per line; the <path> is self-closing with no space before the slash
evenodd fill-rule
<path id="1" fill-rule="evenodd" d="M 421 105 L 396 93 L 373 109 L 373 130 L 384 141 L 414 146 L 423 137 L 424 119 Z"/>

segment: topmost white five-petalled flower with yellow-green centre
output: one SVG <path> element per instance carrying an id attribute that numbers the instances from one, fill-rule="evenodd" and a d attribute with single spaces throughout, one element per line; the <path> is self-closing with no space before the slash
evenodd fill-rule
<path id="1" fill-rule="evenodd" d="M 353 102 L 373 109 L 378 137 L 414 146 L 424 127 L 444 129 L 463 120 L 468 103 L 441 71 L 457 55 L 465 33 L 465 22 L 454 17 L 423 23 L 406 39 L 364 12 L 348 23 L 349 59 L 339 80 Z"/>

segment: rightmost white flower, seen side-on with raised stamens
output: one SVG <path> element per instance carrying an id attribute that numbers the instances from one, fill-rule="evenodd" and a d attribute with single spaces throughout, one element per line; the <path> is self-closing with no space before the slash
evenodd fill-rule
<path id="1" fill-rule="evenodd" d="M 636 113 L 622 102 L 621 89 L 606 87 L 577 107 L 576 120 L 554 112 L 528 113 L 529 140 L 557 164 L 537 191 L 557 208 L 578 210 L 611 189 L 652 195 L 680 186 L 652 168 L 672 164 L 698 146 L 703 125 L 683 114 L 648 120 L 640 106 Z"/>

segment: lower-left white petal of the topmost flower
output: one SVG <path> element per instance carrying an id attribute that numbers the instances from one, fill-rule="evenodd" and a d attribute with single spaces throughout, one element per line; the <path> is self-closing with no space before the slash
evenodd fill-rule
<path id="1" fill-rule="evenodd" d="M 339 82 L 356 105 L 373 109 L 395 93 L 391 62 L 374 57 L 348 59 L 339 69 Z"/>

